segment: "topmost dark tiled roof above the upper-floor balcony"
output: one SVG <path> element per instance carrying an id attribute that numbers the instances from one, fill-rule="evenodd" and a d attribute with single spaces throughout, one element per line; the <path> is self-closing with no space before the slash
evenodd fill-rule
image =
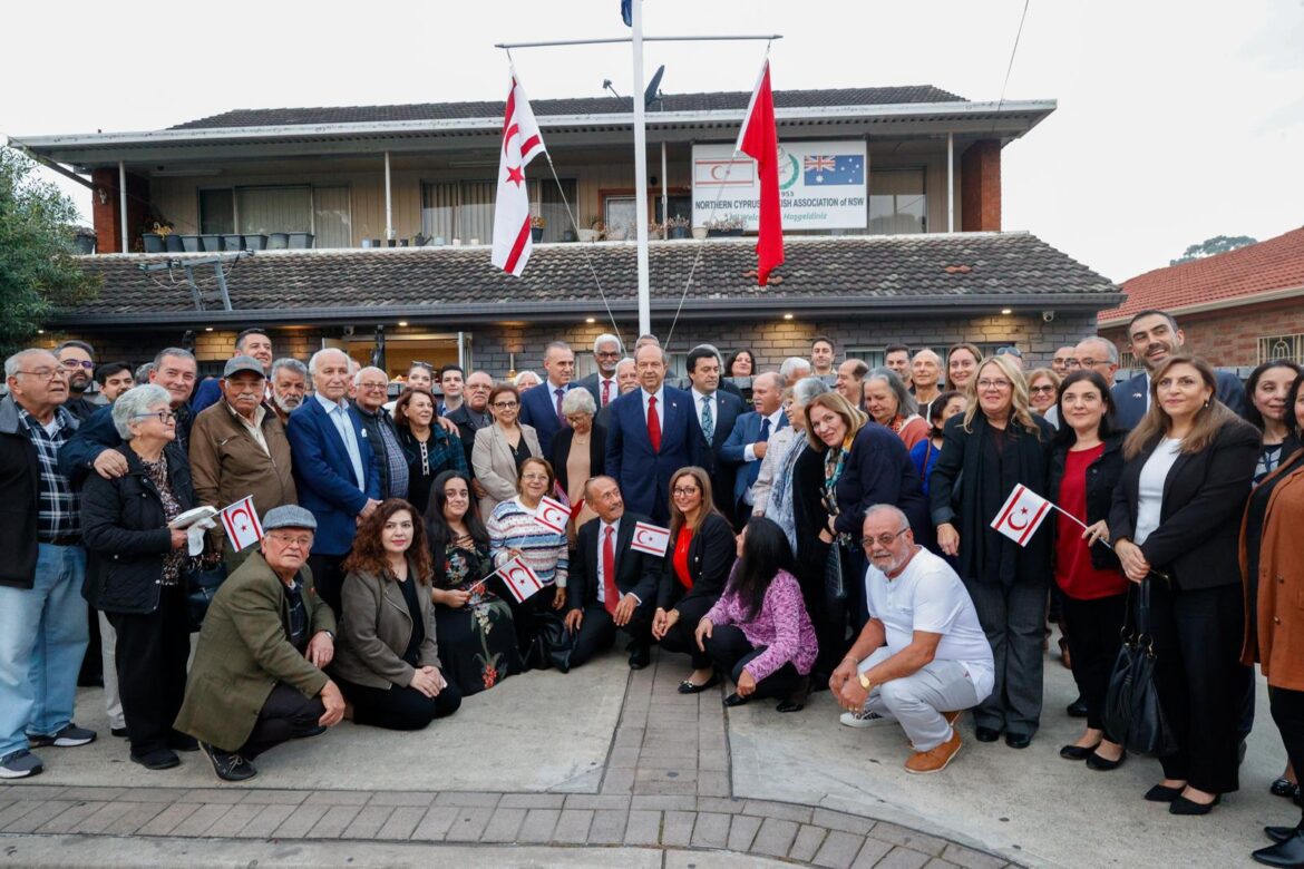
<path id="1" fill-rule="evenodd" d="M 656 112 L 743 111 L 750 91 L 666 94 L 652 104 Z M 775 108 L 827 106 L 893 106 L 901 103 L 962 103 L 962 96 L 931 85 L 904 87 L 838 87 L 828 90 L 775 91 Z M 629 96 L 531 100 L 539 117 L 553 115 L 623 115 L 634 111 Z M 213 117 L 177 124 L 170 129 L 194 130 L 227 126 L 284 126 L 291 124 L 377 124 L 383 121 L 430 121 L 467 117 L 501 117 L 502 102 L 416 103 L 409 106 L 339 106 L 318 108 L 237 108 Z"/>

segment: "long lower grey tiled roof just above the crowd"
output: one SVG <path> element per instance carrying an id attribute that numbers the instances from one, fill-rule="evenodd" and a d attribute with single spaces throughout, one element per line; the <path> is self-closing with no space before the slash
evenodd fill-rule
<path id="1" fill-rule="evenodd" d="M 1118 287 L 1028 233 L 806 237 L 785 241 L 780 281 L 756 287 L 755 240 L 649 245 L 653 311 L 673 311 L 690 272 L 685 317 L 762 315 L 797 307 L 917 313 L 940 306 L 1076 306 L 1119 301 Z M 700 253 L 700 262 L 694 261 Z M 64 324 L 376 317 L 471 321 L 549 319 L 601 313 L 589 263 L 615 310 L 636 307 L 632 242 L 537 245 L 523 278 L 489 262 L 489 249 L 398 248 L 257 253 L 228 267 L 233 314 L 196 311 L 184 271 L 145 274 L 141 263 L 186 254 L 86 257 L 104 278 L 95 301 L 61 311 Z M 196 267 L 213 289 L 211 266 Z M 750 272 L 750 274 L 748 274 Z"/>

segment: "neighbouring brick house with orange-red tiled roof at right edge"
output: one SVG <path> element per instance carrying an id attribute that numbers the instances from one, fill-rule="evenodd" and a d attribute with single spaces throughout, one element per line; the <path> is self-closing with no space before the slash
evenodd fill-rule
<path id="1" fill-rule="evenodd" d="M 1284 358 L 1304 365 L 1304 228 L 1124 281 L 1127 301 L 1101 311 L 1101 334 L 1132 367 L 1128 319 L 1166 310 L 1187 347 L 1221 367 Z"/>

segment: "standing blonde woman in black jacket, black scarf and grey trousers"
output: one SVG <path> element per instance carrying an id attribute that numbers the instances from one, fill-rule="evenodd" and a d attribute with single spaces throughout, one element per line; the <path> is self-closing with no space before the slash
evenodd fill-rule
<path id="1" fill-rule="evenodd" d="M 1045 526 L 1018 543 L 991 528 L 1015 486 L 1047 495 L 1055 430 L 1028 406 L 1024 373 L 1004 356 L 978 365 L 965 387 L 969 409 L 952 417 L 928 478 L 938 546 L 958 555 L 958 573 L 991 642 L 996 684 L 974 709 L 975 736 L 1028 748 L 1042 714 L 1042 641 L 1051 576 Z"/>

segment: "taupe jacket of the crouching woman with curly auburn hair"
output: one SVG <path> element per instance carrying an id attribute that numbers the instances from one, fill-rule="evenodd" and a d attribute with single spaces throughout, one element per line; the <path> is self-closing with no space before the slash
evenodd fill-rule
<path id="1" fill-rule="evenodd" d="M 406 581 L 416 582 L 411 560 Z M 412 615 L 398 581 L 389 576 L 352 572 L 344 577 L 340 598 L 339 644 L 331 672 L 356 685 L 389 688 L 394 684 L 407 688 L 416 672 L 402 658 L 412 640 Z M 425 624 L 417 664 L 442 670 L 429 584 L 417 582 L 416 599 Z"/>

